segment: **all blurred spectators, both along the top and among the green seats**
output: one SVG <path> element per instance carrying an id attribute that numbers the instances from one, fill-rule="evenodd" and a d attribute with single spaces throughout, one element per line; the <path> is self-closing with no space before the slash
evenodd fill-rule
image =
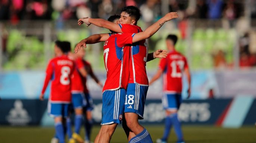
<path id="1" fill-rule="evenodd" d="M 174 22 L 181 33 L 181 39 L 186 38 L 187 19 L 207 19 L 209 23 L 221 19 L 228 23 L 228 27 L 235 27 L 237 19 L 244 17 L 246 11 L 246 3 L 242 0 L 0 0 L 0 21 L 17 25 L 20 20 L 51 20 L 57 22 L 56 28 L 62 29 L 65 20 L 77 20 L 87 16 L 107 19 L 129 5 L 139 7 L 141 20 L 146 26 L 168 12 L 178 12 L 180 17 Z M 250 10 L 251 17 L 256 18 L 256 1 L 251 1 Z M 3 52 L 6 52 L 8 33 L 2 31 L 2 47 Z M 253 37 L 250 35 L 249 32 L 242 33 L 238 42 L 239 63 L 243 67 L 256 66 L 256 55 L 253 54 L 256 51 L 249 48 L 252 43 L 250 37 Z M 216 52 L 213 61 L 215 67 L 226 66 L 225 52 Z"/>

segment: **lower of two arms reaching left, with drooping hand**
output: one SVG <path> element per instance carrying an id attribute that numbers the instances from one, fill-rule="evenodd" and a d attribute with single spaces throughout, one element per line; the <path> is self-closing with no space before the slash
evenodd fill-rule
<path id="1" fill-rule="evenodd" d="M 86 44 L 105 42 L 109 37 L 110 35 L 108 33 L 95 34 L 95 35 L 89 36 L 88 38 L 85 38 L 81 40 L 79 43 L 77 43 L 77 45 L 75 46 L 74 52 L 77 53 L 82 46 L 86 48 Z"/>

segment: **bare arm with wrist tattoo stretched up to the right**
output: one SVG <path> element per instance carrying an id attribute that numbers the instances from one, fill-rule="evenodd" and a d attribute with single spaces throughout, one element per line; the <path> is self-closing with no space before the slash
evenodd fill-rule
<path id="1" fill-rule="evenodd" d="M 149 26 L 144 32 L 139 32 L 133 35 L 132 42 L 135 43 L 140 40 L 144 40 L 151 37 L 152 35 L 154 35 L 155 32 L 157 32 L 164 25 L 165 22 L 178 17 L 179 15 L 177 14 L 177 12 L 167 13 L 164 17 L 159 19 L 156 23 Z"/>

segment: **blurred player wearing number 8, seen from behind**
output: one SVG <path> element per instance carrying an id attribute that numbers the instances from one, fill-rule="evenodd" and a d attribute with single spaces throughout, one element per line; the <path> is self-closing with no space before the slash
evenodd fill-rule
<path id="1" fill-rule="evenodd" d="M 54 117 L 56 135 L 59 143 L 65 142 L 64 118 L 68 117 L 68 105 L 71 103 L 71 75 L 74 62 L 67 56 L 67 49 L 63 42 L 56 41 L 54 46 L 55 58 L 51 59 L 46 68 L 46 77 L 40 100 L 44 99 L 44 92 L 52 80 L 48 103 L 50 116 Z"/>

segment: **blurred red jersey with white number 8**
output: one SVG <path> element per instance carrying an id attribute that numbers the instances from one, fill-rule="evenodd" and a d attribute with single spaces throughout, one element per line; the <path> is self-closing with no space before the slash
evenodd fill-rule
<path id="1" fill-rule="evenodd" d="M 49 81 L 52 80 L 50 98 L 52 103 L 70 103 L 71 101 L 71 75 L 74 71 L 74 62 L 67 55 L 50 60 L 42 94 L 44 94 Z"/>

